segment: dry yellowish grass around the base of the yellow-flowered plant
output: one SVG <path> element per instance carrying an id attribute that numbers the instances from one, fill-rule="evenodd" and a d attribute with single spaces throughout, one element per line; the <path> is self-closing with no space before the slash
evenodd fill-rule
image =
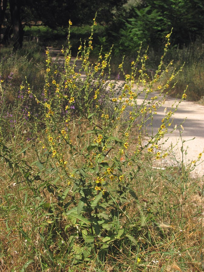
<path id="1" fill-rule="evenodd" d="M 76 139 L 76 130 L 75 126 L 73 141 Z M 84 140 L 88 141 L 88 136 Z M 78 142 L 78 148 L 82 146 L 82 142 Z M 24 159 L 30 163 L 37 160 L 32 147 L 27 150 Z M 131 233 L 137 246 L 125 240 L 113 243 L 100 270 L 96 262 L 86 264 L 86 270 L 83 271 L 202 271 L 202 184 L 190 178 L 186 180 L 176 168 L 153 169 L 146 161 L 146 155 L 143 154 L 137 162 L 141 170 L 132 181 L 139 202 L 130 198 L 121 206 L 127 206 L 126 212 L 132 221 L 132 225 L 128 225 L 123 218 L 121 226 Z M 84 163 L 83 159 L 81 163 Z M 126 171 L 133 171 L 133 167 L 127 165 Z M 49 240 L 52 224 L 49 212 L 42 209 L 43 203 L 35 199 L 25 182 L 19 180 L 19 184 L 14 185 L 17 177 L 6 164 L 1 166 L 1 172 L 1 270 L 12 271 L 13 267 L 22 267 L 32 260 L 25 271 L 40 271 L 44 258 L 49 263 L 44 256 L 46 253 L 41 236 L 43 233 L 43 237 Z M 54 177 L 53 171 L 49 179 Z M 38 182 L 40 184 L 40 181 L 36 181 L 36 184 Z M 61 188 L 66 187 L 63 178 L 59 183 Z M 116 184 L 111 186 L 115 187 Z M 41 194 L 44 202 L 56 203 L 57 199 L 46 188 Z M 55 212 L 60 210 L 56 204 L 53 207 Z M 66 224 L 66 220 L 63 221 L 61 225 Z M 26 239 L 28 234 L 29 238 Z M 54 258 L 58 258 L 60 241 L 58 238 L 54 240 L 49 251 L 54 254 Z M 67 253 L 65 251 L 62 254 L 61 248 L 60 258 L 63 259 L 63 256 L 67 256 Z M 71 252 L 69 256 L 74 257 Z M 67 266 L 61 271 L 69 271 L 70 261 L 66 259 Z M 82 271 L 83 266 L 75 265 L 71 271 Z M 59 271 L 57 264 L 47 271 Z"/>

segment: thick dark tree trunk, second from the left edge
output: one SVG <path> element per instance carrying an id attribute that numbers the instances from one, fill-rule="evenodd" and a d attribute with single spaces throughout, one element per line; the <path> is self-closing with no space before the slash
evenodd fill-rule
<path id="1" fill-rule="evenodd" d="M 14 35 L 13 49 L 14 51 L 16 51 L 23 45 L 23 33 L 24 33 L 20 17 L 20 1 L 9 0 L 9 4 Z"/>

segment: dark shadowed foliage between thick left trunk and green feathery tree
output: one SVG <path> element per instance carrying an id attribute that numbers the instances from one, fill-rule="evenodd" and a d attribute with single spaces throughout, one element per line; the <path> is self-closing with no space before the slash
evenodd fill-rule
<path id="1" fill-rule="evenodd" d="M 27 19 L 42 21 L 50 28 L 73 24 L 89 24 L 97 12 L 97 21 L 113 20 L 115 12 L 127 0 L 22 0 L 22 9 Z"/>

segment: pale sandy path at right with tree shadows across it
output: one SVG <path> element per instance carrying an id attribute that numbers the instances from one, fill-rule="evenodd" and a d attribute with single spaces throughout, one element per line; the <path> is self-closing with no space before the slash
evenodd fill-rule
<path id="1" fill-rule="evenodd" d="M 138 103 L 143 101 L 144 95 L 142 94 Z M 161 125 L 161 120 L 165 117 L 165 108 L 167 111 L 170 111 L 172 105 L 175 102 L 175 98 L 168 96 L 166 101 L 162 106 L 158 109 L 157 114 L 154 115 L 153 121 L 153 131 L 156 133 L 158 128 Z M 177 103 L 176 103 L 177 104 Z M 175 108 L 175 106 L 174 106 Z M 186 119 L 186 120 L 185 120 Z M 179 127 L 182 124 L 184 131 Z M 164 138 L 160 141 L 160 143 L 164 143 L 162 145 L 163 150 L 169 147 L 172 143 L 173 145 L 173 156 L 175 156 L 174 160 L 170 160 L 169 158 L 160 162 L 160 167 L 165 165 L 176 165 L 176 160 L 182 161 L 182 142 L 183 142 L 183 161 L 185 165 L 188 165 L 192 160 L 197 160 L 199 153 L 202 153 L 204 150 L 204 106 L 199 105 L 195 102 L 190 101 L 182 101 L 179 104 L 179 107 L 175 114 L 173 115 L 173 122 L 170 127 L 174 128 L 177 125 L 177 128 L 173 133 L 166 134 Z M 180 137 L 180 131 L 181 137 Z M 193 139 L 195 138 L 195 139 Z M 185 152 L 186 151 L 186 152 Z M 193 176 L 202 177 L 204 175 L 204 154 L 202 154 L 199 162 L 196 163 L 196 168 L 192 172 Z"/>

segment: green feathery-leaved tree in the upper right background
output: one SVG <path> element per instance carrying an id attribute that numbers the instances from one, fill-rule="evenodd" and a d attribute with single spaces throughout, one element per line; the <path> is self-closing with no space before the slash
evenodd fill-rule
<path id="1" fill-rule="evenodd" d="M 172 28 L 172 45 L 188 46 L 198 37 L 204 40 L 203 0 L 143 0 L 133 4 L 129 2 L 126 18 L 121 18 L 123 27 L 116 33 L 120 52 L 137 52 L 141 42 L 144 47 L 160 50 Z"/>

